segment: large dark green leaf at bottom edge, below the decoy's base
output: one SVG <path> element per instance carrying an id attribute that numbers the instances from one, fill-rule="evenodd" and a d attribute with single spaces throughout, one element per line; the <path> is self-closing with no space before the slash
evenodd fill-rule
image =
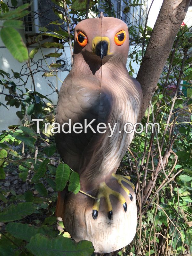
<path id="1" fill-rule="evenodd" d="M 26 248 L 36 256 L 90 256 L 94 252 L 94 247 L 89 241 L 80 241 L 78 243 L 70 238 L 57 236 L 48 238 L 41 234 L 31 237 Z"/>

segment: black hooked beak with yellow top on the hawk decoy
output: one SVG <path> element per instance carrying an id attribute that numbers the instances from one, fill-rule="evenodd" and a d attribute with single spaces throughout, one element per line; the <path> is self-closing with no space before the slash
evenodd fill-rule
<path id="1" fill-rule="evenodd" d="M 103 57 L 107 56 L 109 54 L 110 50 L 110 41 L 107 36 L 100 37 L 96 36 L 92 41 L 92 51 L 97 56 L 103 59 Z"/>

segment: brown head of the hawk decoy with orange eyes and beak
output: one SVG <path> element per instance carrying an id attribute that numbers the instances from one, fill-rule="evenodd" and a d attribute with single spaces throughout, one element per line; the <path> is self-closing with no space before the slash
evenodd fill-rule
<path id="1" fill-rule="evenodd" d="M 113 58 L 126 63 L 129 51 L 127 25 L 113 17 L 82 20 L 75 27 L 74 54 L 105 63 Z"/>

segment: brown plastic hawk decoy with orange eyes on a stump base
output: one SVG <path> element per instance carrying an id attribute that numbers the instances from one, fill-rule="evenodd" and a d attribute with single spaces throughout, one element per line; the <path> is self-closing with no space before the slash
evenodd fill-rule
<path id="1" fill-rule="evenodd" d="M 64 163 L 80 174 L 81 190 L 100 202 L 67 190 L 59 193 L 56 214 L 76 241 L 92 241 L 95 252 L 112 252 L 129 244 L 136 232 L 137 211 L 130 177 L 116 170 L 133 138 L 124 124 L 135 124 L 142 91 L 129 76 L 127 25 L 112 17 L 81 21 L 75 28 L 73 66 L 59 93 L 56 122 L 71 120 L 83 132 L 55 134 Z M 87 132 L 86 123 L 91 123 Z M 103 124 L 100 124 L 103 123 Z M 109 124 L 108 124 L 109 123 Z M 100 132 L 97 125 L 100 124 Z M 110 127 L 115 131 L 112 136 Z M 109 127 L 110 126 L 110 127 Z M 106 130 L 106 132 L 104 132 Z"/>

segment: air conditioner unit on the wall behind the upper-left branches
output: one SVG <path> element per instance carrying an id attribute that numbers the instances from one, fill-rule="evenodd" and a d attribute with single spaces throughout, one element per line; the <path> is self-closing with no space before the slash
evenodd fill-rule
<path id="1" fill-rule="evenodd" d="M 58 30 L 58 26 L 49 24 L 51 21 L 58 21 L 62 23 L 63 20 L 53 12 L 52 7 L 60 9 L 61 7 L 54 4 L 51 0 L 22 0 L 22 4 L 30 3 L 29 10 L 31 11 L 24 17 L 25 33 L 26 34 L 39 34 L 39 28 L 45 27 L 51 31 Z M 62 11 L 62 10 L 60 10 Z M 61 25 L 64 29 L 65 24 Z"/>

